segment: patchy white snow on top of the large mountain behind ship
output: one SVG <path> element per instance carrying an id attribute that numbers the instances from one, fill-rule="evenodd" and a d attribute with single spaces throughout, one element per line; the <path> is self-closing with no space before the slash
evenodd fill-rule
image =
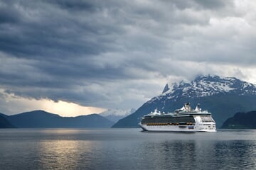
<path id="1" fill-rule="evenodd" d="M 171 86 L 166 84 L 160 96 L 168 95 L 168 98 L 177 98 L 178 96 L 202 97 L 232 91 L 239 95 L 256 94 L 256 87 L 254 84 L 241 81 L 235 77 L 208 75 L 196 77 L 190 83 L 181 81 L 178 84 L 171 84 Z"/>

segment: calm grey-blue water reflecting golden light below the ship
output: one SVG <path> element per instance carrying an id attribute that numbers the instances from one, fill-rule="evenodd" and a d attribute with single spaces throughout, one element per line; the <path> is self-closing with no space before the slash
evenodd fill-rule
<path id="1" fill-rule="evenodd" d="M 0 130 L 0 169 L 256 169 L 256 130 Z"/>

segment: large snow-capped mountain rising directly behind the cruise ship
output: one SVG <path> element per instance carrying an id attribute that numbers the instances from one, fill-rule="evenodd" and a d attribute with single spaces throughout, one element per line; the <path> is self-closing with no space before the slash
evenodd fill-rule
<path id="1" fill-rule="evenodd" d="M 213 114 L 220 125 L 234 113 L 256 110 L 256 87 L 235 77 L 200 76 L 191 82 L 166 84 L 159 96 L 151 98 L 132 115 L 119 120 L 113 128 L 138 128 L 143 115 L 154 111 L 173 112 L 184 103 L 201 103 L 203 110 Z"/>

